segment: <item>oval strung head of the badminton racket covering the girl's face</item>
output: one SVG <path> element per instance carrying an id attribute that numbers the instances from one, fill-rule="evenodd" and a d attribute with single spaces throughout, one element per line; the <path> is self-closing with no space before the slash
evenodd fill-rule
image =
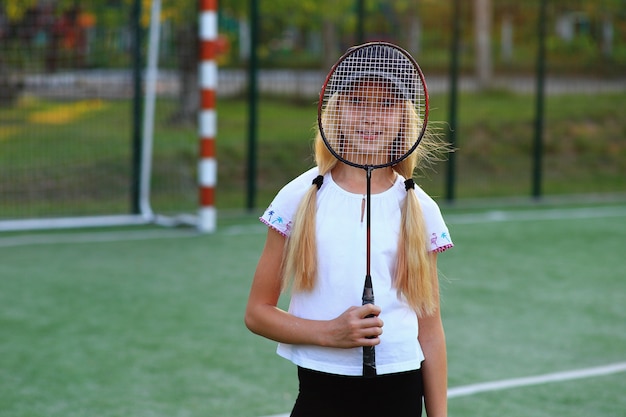
<path id="1" fill-rule="evenodd" d="M 344 162 L 392 165 L 421 139 L 425 86 L 416 64 L 398 48 L 371 44 L 349 51 L 321 98 L 323 137 Z"/>

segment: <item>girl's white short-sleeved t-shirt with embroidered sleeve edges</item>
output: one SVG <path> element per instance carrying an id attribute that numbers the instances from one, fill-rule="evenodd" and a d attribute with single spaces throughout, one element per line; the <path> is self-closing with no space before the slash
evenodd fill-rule
<path id="1" fill-rule="evenodd" d="M 364 173 L 365 175 L 365 173 Z M 303 173 L 276 195 L 261 221 L 288 236 L 300 200 L 318 176 L 318 169 Z M 417 340 L 417 315 L 393 287 L 400 231 L 401 206 L 406 198 L 404 178 L 370 199 L 371 265 L 375 304 L 381 307 L 383 334 L 376 346 L 379 375 L 419 369 L 424 355 Z M 437 204 L 415 187 L 426 221 L 431 250 L 453 246 Z M 351 306 L 361 305 L 366 274 L 365 196 L 337 185 L 330 173 L 317 192 L 316 239 L 318 277 L 311 292 L 293 292 L 289 312 L 311 320 L 331 320 Z M 294 364 L 339 375 L 361 375 L 362 348 L 338 349 L 279 343 L 277 353 Z"/>

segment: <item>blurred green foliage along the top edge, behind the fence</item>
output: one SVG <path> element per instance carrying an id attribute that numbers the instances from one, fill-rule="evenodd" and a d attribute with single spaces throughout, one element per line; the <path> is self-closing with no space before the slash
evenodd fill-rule
<path id="1" fill-rule="evenodd" d="M 91 51 L 98 50 L 98 54 L 92 53 L 90 64 L 96 67 L 112 67 L 119 65 L 120 59 L 114 50 L 104 51 L 98 44 L 106 31 L 115 31 L 128 26 L 129 10 L 135 0 L 120 0 L 109 2 L 108 0 L 93 0 L 80 2 L 81 10 L 92 14 L 96 19 L 97 33 L 92 37 L 94 42 Z M 144 27 L 149 24 L 150 0 L 140 0 L 142 6 L 141 22 Z M 257 0 L 258 1 L 258 0 Z M 55 10 L 60 14 L 67 7 L 74 5 L 73 0 L 59 0 L 55 3 Z M 492 2 L 493 7 L 493 31 L 492 43 L 494 51 L 500 39 L 501 21 L 504 15 L 511 18 L 514 25 L 514 48 L 513 57 L 508 62 L 494 60 L 495 71 L 499 72 L 531 72 L 534 69 L 536 49 L 536 28 L 538 1 L 514 2 L 510 0 Z M 34 4 L 34 0 L 19 1 L 7 0 L 5 9 L 13 22 L 18 22 L 28 6 Z M 258 1 L 260 10 L 259 19 L 259 46 L 261 65 L 276 67 L 277 65 L 293 68 L 320 67 L 324 65 L 324 51 L 321 42 L 321 34 L 333 27 L 335 39 L 334 47 L 343 50 L 347 45 L 355 42 L 357 28 L 355 0 L 336 0 L 332 7 L 327 7 L 324 2 L 305 0 L 275 0 Z M 219 15 L 223 24 L 220 27 L 221 35 L 228 38 L 230 51 L 223 56 L 221 63 L 229 66 L 245 65 L 240 51 L 239 22 L 248 20 L 249 0 L 234 0 L 219 2 Z M 408 47 L 408 36 L 419 22 L 421 27 L 419 60 L 423 67 L 431 68 L 437 72 L 447 71 L 449 60 L 449 47 L 451 44 L 452 31 L 452 2 L 447 1 L 416 1 L 401 0 L 394 2 L 382 2 L 379 0 L 366 0 L 365 6 L 365 31 L 369 39 L 387 39 Z M 626 60 L 621 52 L 624 48 L 624 3 L 619 0 L 607 0 L 602 2 L 571 2 L 558 0 L 550 2 L 549 33 L 554 33 L 555 20 L 563 13 L 580 12 L 589 19 L 589 30 L 584 36 L 580 36 L 573 42 L 564 42 L 556 38 L 550 39 L 549 57 L 551 70 L 556 73 L 571 73 L 572 71 L 586 71 L 601 75 L 618 76 L 623 74 L 626 68 Z M 179 31 L 188 29 L 191 24 L 197 22 L 197 1 L 195 0 L 162 0 L 162 19 L 171 28 L 172 36 L 176 38 Z M 461 66 L 465 71 L 474 68 L 473 52 L 473 10 L 472 2 L 462 2 L 461 7 L 461 31 L 462 31 L 462 59 Z M 609 19 L 614 25 L 613 53 L 604 57 L 601 54 L 601 24 Z M 324 24 L 326 23 L 326 25 Z M 328 25 L 330 24 L 330 26 Z M 413 35 L 411 35 L 413 36 Z M 332 38 L 332 37 L 330 37 Z M 326 39 L 326 40 L 330 40 Z M 412 38 L 413 39 L 413 38 Z M 180 44 L 175 41 L 174 47 L 164 48 L 169 56 L 163 56 L 168 65 L 177 63 L 179 57 L 173 53 L 178 48 L 185 47 L 186 43 Z M 190 46 L 191 47 L 191 46 Z M 411 45 L 413 48 L 414 45 Z M 30 65 L 43 67 L 37 62 L 42 61 L 44 56 L 41 51 L 29 51 Z M 417 51 L 412 51 L 416 52 Z M 109 60 L 108 56 L 112 55 Z M 193 53 L 189 54 L 190 56 Z M 35 65 L 36 64 L 36 65 Z M 178 62 L 180 64 L 180 62 Z M 576 65 L 578 64 L 578 65 Z"/>

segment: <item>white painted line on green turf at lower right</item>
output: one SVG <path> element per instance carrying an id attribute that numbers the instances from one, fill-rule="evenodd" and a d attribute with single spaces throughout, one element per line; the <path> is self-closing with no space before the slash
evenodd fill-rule
<path id="1" fill-rule="evenodd" d="M 450 388 L 448 398 L 463 397 L 479 394 L 481 392 L 499 391 L 504 389 L 526 387 L 531 385 L 547 384 L 550 382 L 566 382 L 575 379 L 591 378 L 594 376 L 604 376 L 626 372 L 626 362 L 618 362 L 595 368 L 576 369 L 573 371 L 554 372 L 551 374 L 536 375 L 524 378 L 503 379 L 500 381 L 483 382 L 479 384 L 463 385 Z M 289 417 L 287 414 L 274 414 L 265 417 Z"/>

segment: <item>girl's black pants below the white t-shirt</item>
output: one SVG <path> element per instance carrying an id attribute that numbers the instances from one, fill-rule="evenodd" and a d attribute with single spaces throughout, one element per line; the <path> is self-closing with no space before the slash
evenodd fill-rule
<path id="1" fill-rule="evenodd" d="M 420 370 L 374 378 L 298 368 L 300 392 L 291 417 L 420 417 Z"/>

